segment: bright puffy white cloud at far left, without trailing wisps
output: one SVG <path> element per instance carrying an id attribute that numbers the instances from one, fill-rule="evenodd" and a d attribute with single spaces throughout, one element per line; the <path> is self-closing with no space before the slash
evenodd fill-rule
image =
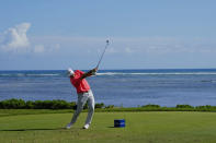
<path id="1" fill-rule="evenodd" d="M 0 48 L 5 51 L 26 50 L 30 47 L 30 41 L 26 33 L 31 23 L 21 23 L 14 27 L 8 28 L 0 38 Z"/>

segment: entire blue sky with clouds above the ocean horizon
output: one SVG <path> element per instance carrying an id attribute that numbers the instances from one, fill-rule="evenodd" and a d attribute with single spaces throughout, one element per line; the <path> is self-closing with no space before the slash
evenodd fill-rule
<path id="1" fill-rule="evenodd" d="M 0 0 L 0 70 L 216 68 L 215 0 Z"/>

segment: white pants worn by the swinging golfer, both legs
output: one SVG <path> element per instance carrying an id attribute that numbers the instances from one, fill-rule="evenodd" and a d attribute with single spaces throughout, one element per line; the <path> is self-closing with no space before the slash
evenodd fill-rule
<path id="1" fill-rule="evenodd" d="M 86 124 L 91 123 L 93 112 L 94 112 L 94 97 L 93 97 L 92 91 L 90 90 L 88 93 L 78 94 L 77 110 L 75 111 L 72 119 L 70 121 L 71 124 L 73 124 L 77 121 L 77 118 L 80 115 L 80 112 L 82 111 L 86 103 L 88 103 L 88 106 L 89 106 L 89 111 L 88 111 Z"/>

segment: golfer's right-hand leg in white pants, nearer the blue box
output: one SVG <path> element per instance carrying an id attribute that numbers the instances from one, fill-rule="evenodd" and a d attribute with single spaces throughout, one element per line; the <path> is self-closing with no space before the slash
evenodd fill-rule
<path id="1" fill-rule="evenodd" d="M 89 92 L 88 106 L 89 106 L 89 111 L 88 111 L 86 124 L 91 123 L 91 120 L 92 120 L 92 117 L 94 114 L 94 97 L 93 97 L 93 93 L 91 91 Z"/>

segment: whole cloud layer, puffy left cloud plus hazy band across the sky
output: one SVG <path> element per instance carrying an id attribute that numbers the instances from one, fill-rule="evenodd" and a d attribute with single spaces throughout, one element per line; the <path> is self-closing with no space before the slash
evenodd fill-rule
<path id="1" fill-rule="evenodd" d="M 30 36 L 31 23 L 21 23 L 0 34 L 0 50 L 27 53 L 101 55 L 106 37 Z M 216 53 L 215 39 L 177 37 L 111 37 L 110 55 Z"/>

